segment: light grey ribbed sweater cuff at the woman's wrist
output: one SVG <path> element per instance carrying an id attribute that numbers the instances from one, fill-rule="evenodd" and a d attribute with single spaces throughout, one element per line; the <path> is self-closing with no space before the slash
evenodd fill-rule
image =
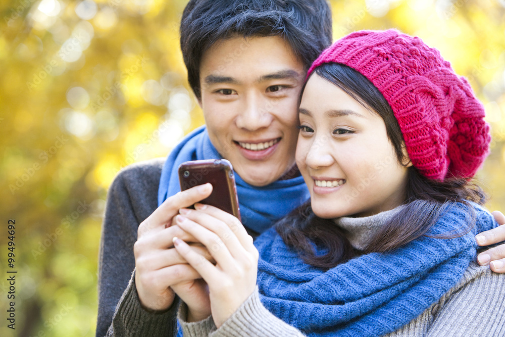
<path id="1" fill-rule="evenodd" d="M 274 316 L 260 301 L 258 286 L 224 323 L 209 337 L 304 336 L 298 329 Z"/>

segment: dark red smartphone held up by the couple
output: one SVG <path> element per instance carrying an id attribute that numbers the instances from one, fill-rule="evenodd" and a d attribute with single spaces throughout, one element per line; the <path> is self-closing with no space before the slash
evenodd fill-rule
<path id="1" fill-rule="evenodd" d="M 212 193 L 200 203 L 222 209 L 241 220 L 235 175 L 226 159 L 184 162 L 179 165 L 179 182 L 181 190 L 210 182 Z"/>

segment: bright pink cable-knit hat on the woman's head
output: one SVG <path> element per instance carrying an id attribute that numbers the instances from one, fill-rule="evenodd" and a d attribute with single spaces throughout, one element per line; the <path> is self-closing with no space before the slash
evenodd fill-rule
<path id="1" fill-rule="evenodd" d="M 312 64 L 344 64 L 367 77 L 393 110 L 412 164 L 427 178 L 475 175 L 489 153 L 484 107 L 464 77 L 419 37 L 358 31 Z"/>

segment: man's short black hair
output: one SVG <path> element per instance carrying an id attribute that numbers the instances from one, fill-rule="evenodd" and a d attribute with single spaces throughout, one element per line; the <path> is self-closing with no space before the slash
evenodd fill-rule
<path id="1" fill-rule="evenodd" d="M 281 36 L 308 70 L 332 42 L 326 0 L 191 0 L 180 26 L 189 85 L 201 98 L 200 61 L 215 42 L 234 36 Z"/>

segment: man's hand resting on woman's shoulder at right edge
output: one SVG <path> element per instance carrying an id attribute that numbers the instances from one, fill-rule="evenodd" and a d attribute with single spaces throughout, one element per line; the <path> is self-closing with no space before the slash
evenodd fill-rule
<path id="1" fill-rule="evenodd" d="M 499 211 L 491 213 L 499 227 L 475 236 L 475 240 L 479 246 L 488 246 L 505 241 L 505 216 Z M 489 265 L 491 270 L 496 273 L 505 273 L 505 244 L 488 249 L 477 256 L 477 261 L 481 266 Z"/>

